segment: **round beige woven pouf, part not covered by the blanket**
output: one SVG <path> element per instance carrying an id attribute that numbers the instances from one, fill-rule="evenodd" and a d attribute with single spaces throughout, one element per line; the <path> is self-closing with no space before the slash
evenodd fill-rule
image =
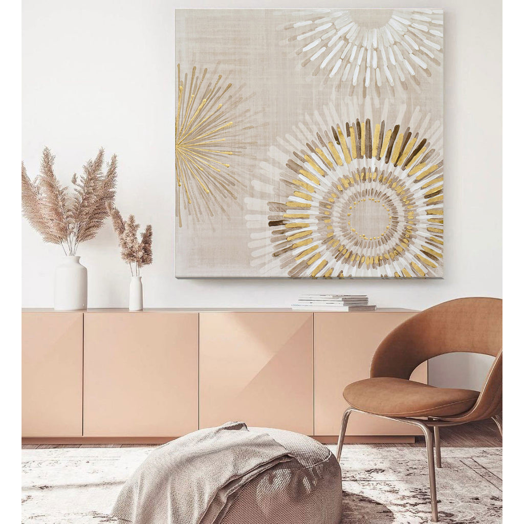
<path id="1" fill-rule="evenodd" d="M 342 475 L 335 456 L 309 436 L 268 428 L 294 460 L 283 462 L 249 482 L 221 524 L 339 524 Z"/>

